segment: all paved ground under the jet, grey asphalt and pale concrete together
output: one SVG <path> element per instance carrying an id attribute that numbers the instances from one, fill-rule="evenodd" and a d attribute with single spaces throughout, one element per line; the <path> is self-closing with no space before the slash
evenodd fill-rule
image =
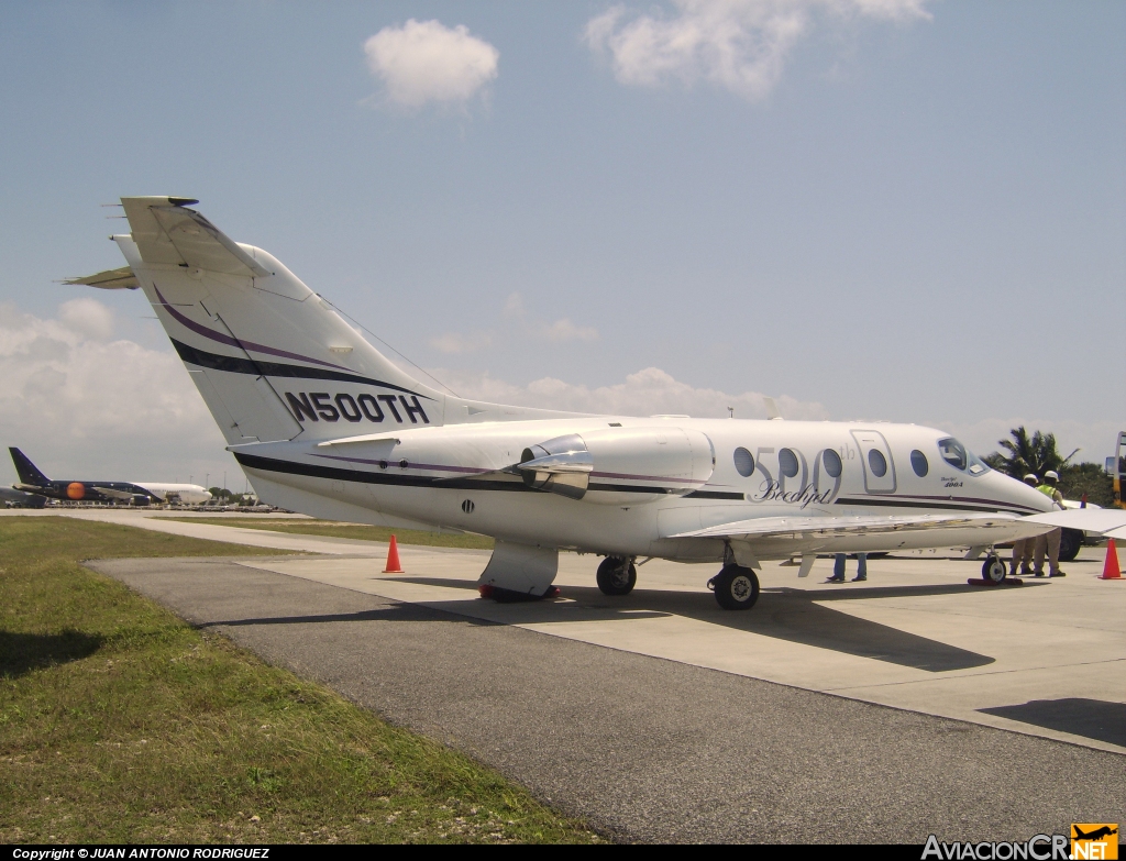
<path id="1" fill-rule="evenodd" d="M 1000 589 L 940 553 L 840 586 L 768 564 L 733 613 L 715 566 L 654 560 L 609 599 L 564 554 L 562 599 L 495 604 L 488 551 L 401 547 L 384 575 L 381 545 L 73 515 L 324 554 L 92 567 L 623 838 L 1026 838 L 1126 809 L 1126 583 L 1097 551 Z"/>

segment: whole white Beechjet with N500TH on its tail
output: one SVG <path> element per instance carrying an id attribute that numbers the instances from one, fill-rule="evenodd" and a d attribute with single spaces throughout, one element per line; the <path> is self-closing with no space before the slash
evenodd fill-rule
<path id="1" fill-rule="evenodd" d="M 597 582 L 611 595 L 634 588 L 638 557 L 720 563 L 709 586 L 741 610 L 763 559 L 799 556 L 807 576 L 824 553 L 991 550 L 1055 526 L 1126 524 L 1126 512 L 1071 522 L 1100 512 L 1054 511 L 913 424 L 588 415 L 443 394 L 196 203 L 122 198 L 132 233 L 113 239 L 128 266 L 71 282 L 144 290 L 263 502 L 492 536 L 483 595 L 554 594 L 570 549 L 606 557 Z M 992 551 L 983 573 L 1004 577 Z"/>

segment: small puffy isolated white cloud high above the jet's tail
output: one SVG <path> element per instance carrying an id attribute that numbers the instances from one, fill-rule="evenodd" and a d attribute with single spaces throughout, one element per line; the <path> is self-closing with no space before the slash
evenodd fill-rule
<path id="1" fill-rule="evenodd" d="M 364 43 L 367 65 L 387 99 L 405 107 L 465 104 L 497 78 L 500 52 L 458 25 L 411 18 Z"/>

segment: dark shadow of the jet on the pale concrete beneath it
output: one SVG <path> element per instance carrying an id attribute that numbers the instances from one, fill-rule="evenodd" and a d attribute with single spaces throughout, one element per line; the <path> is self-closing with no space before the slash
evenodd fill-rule
<path id="1" fill-rule="evenodd" d="M 477 588 L 476 581 L 471 580 L 437 577 L 394 577 L 394 580 L 447 589 L 476 591 Z M 819 603 L 860 598 L 971 594 L 969 588 L 960 584 L 867 586 L 849 589 L 846 592 L 769 589 L 762 591 L 759 603 L 748 612 L 722 610 L 716 607 L 715 599 L 704 592 L 635 589 L 627 598 L 608 598 L 593 588 L 563 586 L 562 590 L 563 598 L 573 599 L 574 604 L 551 601 L 503 604 L 503 610 L 498 615 L 510 625 L 683 616 L 789 643 L 816 646 L 857 657 L 869 657 L 931 673 L 968 670 L 994 662 L 989 655 L 860 619 Z M 430 606 L 439 608 L 441 602 Z M 569 608 L 564 611 L 568 615 L 563 618 L 560 615 L 561 608 Z M 448 602 L 448 609 L 452 612 L 465 612 L 464 602 Z"/>

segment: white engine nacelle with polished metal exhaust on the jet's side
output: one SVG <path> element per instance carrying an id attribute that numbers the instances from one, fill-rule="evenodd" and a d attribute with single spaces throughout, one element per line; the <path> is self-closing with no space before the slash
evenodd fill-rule
<path id="1" fill-rule="evenodd" d="M 715 447 L 696 430 L 608 428 L 529 446 L 516 468 L 529 487 L 635 505 L 703 487 L 715 470 Z"/>

